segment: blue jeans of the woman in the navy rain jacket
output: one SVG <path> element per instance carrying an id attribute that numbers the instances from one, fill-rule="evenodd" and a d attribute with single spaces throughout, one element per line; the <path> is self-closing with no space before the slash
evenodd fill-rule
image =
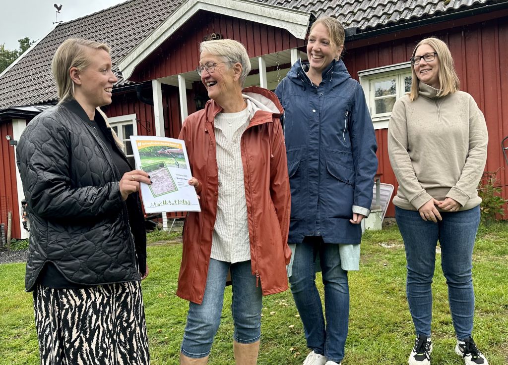
<path id="1" fill-rule="evenodd" d="M 325 317 L 315 285 L 315 258 L 320 255 L 325 285 Z M 344 357 L 349 323 L 347 271 L 340 267 L 338 244 L 323 243 L 321 237 L 305 237 L 296 245 L 291 293 L 302 319 L 307 347 L 339 363 Z"/>

